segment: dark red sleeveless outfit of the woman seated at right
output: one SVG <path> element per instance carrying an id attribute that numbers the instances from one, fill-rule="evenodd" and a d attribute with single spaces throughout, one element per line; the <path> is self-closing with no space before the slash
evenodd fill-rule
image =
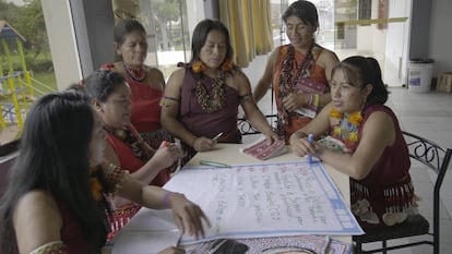
<path id="1" fill-rule="evenodd" d="M 362 112 L 362 122 L 358 126 L 358 142 L 368 118 L 378 111 L 391 116 L 395 129 L 394 144 L 384 148 L 381 157 L 362 180 L 350 178 L 352 210 L 362 228 L 385 227 L 383 218 L 394 213 L 407 213 L 416 207 L 414 188 L 409 176 L 409 154 L 394 112 L 384 105 L 372 105 Z M 346 143 L 346 142 L 344 142 Z M 357 146 L 348 147 L 356 149 Z M 368 207 L 362 207 L 368 202 Z M 370 210 L 366 213 L 366 210 Z M 409 213 L 408 213 L 409 214 Z M 386 219 L 389 221 L 389 219 Z"/>

